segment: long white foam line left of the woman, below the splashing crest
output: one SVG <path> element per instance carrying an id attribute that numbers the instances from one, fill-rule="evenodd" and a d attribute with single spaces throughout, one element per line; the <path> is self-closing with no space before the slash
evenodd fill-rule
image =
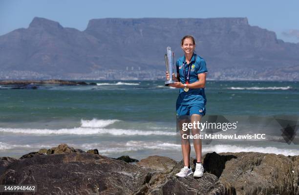
<path id="1" fill-rule="evenodd" d="M 174 136 L 176 132 L 160 130 L 123 130 L 123 129 L 99 129 L 99 128 L 73 128 L 73 129 L 12 129 L 0 128 L 0 132 L 24 133 L 24 134 L 75 134 L 75 135 L 92 135 L 92 134 L 110 134 L 110 135 L 168 135 Z"/>

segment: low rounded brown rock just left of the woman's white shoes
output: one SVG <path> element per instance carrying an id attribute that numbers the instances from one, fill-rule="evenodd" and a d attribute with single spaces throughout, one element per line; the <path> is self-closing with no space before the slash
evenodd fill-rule
<path id="1" fill-rule="evenodd" d="M 137 165 L 145 166 L 163 173 L 170 173 L 176 165 L 176 161 L 165 156 L 149 156 L 142 159 Z"/>

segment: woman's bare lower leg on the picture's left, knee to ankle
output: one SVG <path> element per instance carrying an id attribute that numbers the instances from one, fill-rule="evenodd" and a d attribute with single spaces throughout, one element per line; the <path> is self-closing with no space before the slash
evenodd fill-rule
<path id="1" fill-rule="evenodd" d="M 182 145 L 182 152 L 183 152 L 183 159 L 184 159 L 184 166 L 190 166 L 190 141 L 189 139 L 184 139 L 183 135 L 185 134 L 184 137 L 187 137 L 186 135 L 190 135 L 190 131 L 189 129 L 184 131 L 182 130 L 183 127 L 183 123 L 189 123 L 190 121 L 188 119 L 182 119 L 180 120 L 179 124 L 180 124 L 180 133 L 181 133 L 181 145 Z"/>

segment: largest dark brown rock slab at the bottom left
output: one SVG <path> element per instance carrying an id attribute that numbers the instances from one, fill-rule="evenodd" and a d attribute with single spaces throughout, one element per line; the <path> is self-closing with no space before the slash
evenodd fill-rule
<path id="1" fill-rule="evenodd" d="M 97 154 L 58 153 L 11 162 L 0 184 L 35 184 L 39 195 L 129 195 L 149 181 L 148 173 L 148 169 Z"/>

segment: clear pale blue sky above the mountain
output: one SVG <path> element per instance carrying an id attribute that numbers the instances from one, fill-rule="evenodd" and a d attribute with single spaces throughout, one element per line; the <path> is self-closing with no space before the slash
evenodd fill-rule
<path id="1" fill-rule="evenodd" d="M 27 28 L 34 17 L 85 30 L 100 18 L 246 17 L 250 25 L 299 43 L 299 0 L 0 0 L 0 35 Z"/>

